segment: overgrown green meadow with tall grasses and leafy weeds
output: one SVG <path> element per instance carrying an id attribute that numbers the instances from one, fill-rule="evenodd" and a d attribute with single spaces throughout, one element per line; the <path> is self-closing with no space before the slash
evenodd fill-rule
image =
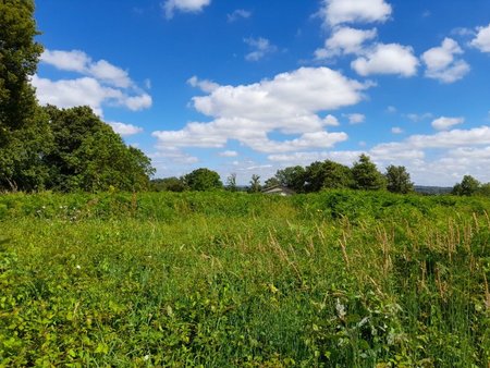
<path id="1" fill-rule="evenodd" d="M 0 195 L 0 367 L 490 367 L 490 199 Z"/>

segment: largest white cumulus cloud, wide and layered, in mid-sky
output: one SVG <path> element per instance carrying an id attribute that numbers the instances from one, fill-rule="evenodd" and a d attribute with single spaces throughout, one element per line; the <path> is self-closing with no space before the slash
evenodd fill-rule
<path id="1" fill-rule="evenodd" d="M 259 152 L 285 152 L 332 147 L 347 139 L 326 126 L 338 120 L 320 113 L 359 102 L 369 85 L 348 79 L 328 68 L 302 68 L 273 79 L 238 86 L 219 86 L 193 98 L 194 108 L 213 120 L 192 122 L 180 131 L 154 132 L 160 147 L 222 148 L 236 139 Z M 269 134 L 294 135 L 271 140 Z"/>

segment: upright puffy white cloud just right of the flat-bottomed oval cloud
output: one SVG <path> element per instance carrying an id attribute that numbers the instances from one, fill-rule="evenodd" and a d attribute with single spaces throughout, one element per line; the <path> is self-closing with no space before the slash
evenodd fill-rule
<path id="1" fill-rule="evenodd" d="M 425 75 L 442 83 L 463 78 L 470 68 L 464 60 L 455 59 L 461 53 L 463 50 L 460 45 L 452 38 L 445 38 L 441 46 L 431 48 L 421 56 L 427 66 Z"/>

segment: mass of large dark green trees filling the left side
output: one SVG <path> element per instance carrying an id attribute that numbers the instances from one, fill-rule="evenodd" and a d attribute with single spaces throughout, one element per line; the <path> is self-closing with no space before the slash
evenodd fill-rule
<path id="1" fill-rule="evenodd" d="M 0 1 L 0 192 L 143 191 L 150 160 L 88 107 L 41 107 L 34 1 Z"/>

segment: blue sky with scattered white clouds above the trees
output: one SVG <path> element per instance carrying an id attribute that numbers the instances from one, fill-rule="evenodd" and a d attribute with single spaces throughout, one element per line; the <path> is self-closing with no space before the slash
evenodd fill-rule
<path id="1" fill-rule="evenodd" d="M 88 105 L 158 177 L 362 152 L 490 182 L 488 0 L 37 1 L 41 103 Z"/>

